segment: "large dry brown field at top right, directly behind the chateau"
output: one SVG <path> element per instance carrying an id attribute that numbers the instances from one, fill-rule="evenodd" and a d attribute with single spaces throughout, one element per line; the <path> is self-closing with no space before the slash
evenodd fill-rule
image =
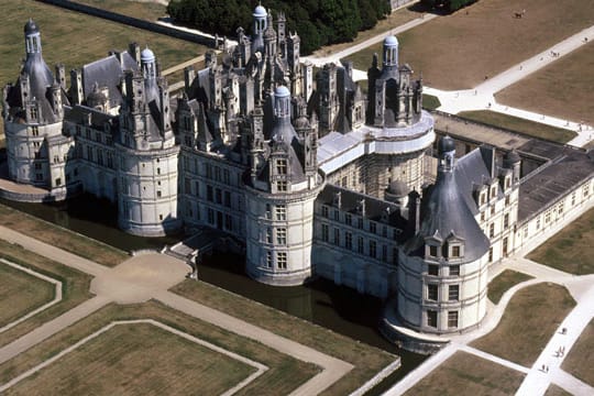
<path id="1" fill-rule="evenodd" d="M 522 9 L 525 16 L 514 18 Z M 590 0 L 477 1 L 398 35 L 400 63 L 422 72 L 430 87 L 469 89 L 588 28 L 593 18 Z M 374 52 L 382 53 L 381 43 L 350 58 L 366 70 Z"/>

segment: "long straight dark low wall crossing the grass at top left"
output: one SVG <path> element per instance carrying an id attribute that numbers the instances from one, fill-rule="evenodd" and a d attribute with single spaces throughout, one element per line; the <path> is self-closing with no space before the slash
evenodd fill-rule
<path id="1" fill-rule="evenodd" d="M 74 1 L 68 1 L 68 0 L 37 0 L 37 1 L 56 6 L 56 7 L 62 7 L 72 11 L 82 12 L 88 15 L 107 19 L 113 22 L 123 23 L 130 26 L 144 29 L 154 33 L 165 34 L 174 38 L 198 43 L 201 45 L 206 45 L 208 47 L 215 48 L 216 46 L 215 38 L 211 38 L 211 37 L 201 36 L 198 34 L 190 33 L 190 32 L 179 31 L 177 29 L 164 26 L 154 22 L 141 20 L 133 16 L 122 15 L 117 12 L 101 10 L 95 7 L 80 4 Z"/>

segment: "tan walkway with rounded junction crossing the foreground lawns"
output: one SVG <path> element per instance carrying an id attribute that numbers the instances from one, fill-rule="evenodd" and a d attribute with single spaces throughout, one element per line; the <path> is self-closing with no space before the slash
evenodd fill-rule
<path id="1" fill-rule="evenodd" d="M 293 393 L 294 395 L 321 393 L 353 369 L 350 363 L 168 292 L 170 287 L 184 280 L 190 270 L 184 262 L 172 256 L 156 253 L 138 255 L 114 268 L 108 268 L 1 226 L 0 238 L 94 275 L 91 293 L 96 295 L 96 297 L 0 348 L 0 364 L 110 302 L 134 304 L 154 298 L 174 309 L 322 369 L 320 373 L 297 388 Z"/>

